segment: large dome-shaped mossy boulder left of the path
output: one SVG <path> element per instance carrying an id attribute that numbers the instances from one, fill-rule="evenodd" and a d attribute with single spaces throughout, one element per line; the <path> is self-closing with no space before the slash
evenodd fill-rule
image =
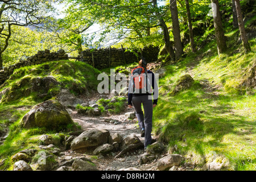
<path id="1" fill-rule="evenodd" d="M 44 127 L 49 130 L 63 130 L 68 125 L 76 130 L 68 111 L 56 100 L 44 101 L 32 107 L 22 118 L 22 126 L 26 129 L 31 127 Z"/>

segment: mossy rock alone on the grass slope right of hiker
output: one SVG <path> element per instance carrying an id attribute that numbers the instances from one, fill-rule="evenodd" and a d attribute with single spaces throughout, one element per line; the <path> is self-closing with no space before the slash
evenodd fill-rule
<path id="1" fill-rule="evenodd" d="M 172 92 L 170 93 L 171 95 L 175 95 L 176 93 L 191 88 L 191 86 L 193 85 L 193 83 L 195 82 L 195 80 L 188 74 L 183 75 L 180 77 L 180 79 L 177 81 L 177 84 L 174 88 L 174 90 L 172 90 Z"/>

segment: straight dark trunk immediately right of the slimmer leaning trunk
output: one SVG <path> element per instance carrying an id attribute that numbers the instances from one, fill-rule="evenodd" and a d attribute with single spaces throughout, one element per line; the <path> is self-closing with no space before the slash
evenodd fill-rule
<path id="1" fill-rule="evenodd" d="M 183 55 L 183 47 L 180 39 L 180 24 L 179 16 L 177 14 L 177 2 L 176 0 L 170 0 L 170 10 L 172 16 L 172 32 L 174 33 L 174 46 L 176 48 L 175 57 L 179 59 Z"/>

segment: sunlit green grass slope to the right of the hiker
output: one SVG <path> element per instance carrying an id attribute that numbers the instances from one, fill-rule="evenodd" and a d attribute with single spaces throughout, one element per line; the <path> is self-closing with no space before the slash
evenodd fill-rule
<path id="1" fill-rule="evenodd" d="M 233 36 L 235 32 L 228 34 Z M 230 39 L 230 41 L 233 41 Z M 216 152 L 220 162 L 228 161 L 226 170 L 256 170 L 256 95 L 254 89 L 241 87 L 244 74 L 255 61 L 255 40 L 252 52 L 232 54 L 234 46 L 217 55 L 213 40 L 197 53 L 189 52 L 176 64 L 167 65 L 166 75 L 159 80 L 158 106 L 154 108 L 153 130 L 175 153 L 186 156 L 200 169 Z M 177 80 L 189 73 L 193 86 L 172 96 Z M 212 92 L 200 84 L 219 85 Z"/>

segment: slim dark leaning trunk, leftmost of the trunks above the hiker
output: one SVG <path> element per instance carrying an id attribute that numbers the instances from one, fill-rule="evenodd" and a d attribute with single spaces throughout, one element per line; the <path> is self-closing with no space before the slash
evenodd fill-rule
<path id="1" fill-rule="evenodd" d="M 153 0 L 154 6 L 157 7 L 156 0 Z M 156 14 L 159 16 L 159 22 L 160 26 L 163 30 L 163 37 L 164 37 L 164 46 L 166 47 L 166 51 L 169 53 L 171 60 L 175 60 L 175 53 L 174 49 L 172 48 L 172 43 L 170 41 L 170 35 L 168 32 L 168 28 L 166 26 L 166 22 L 164 22 L 162 16 L 159 14 L 158 11 L 156 11 Z"/>

